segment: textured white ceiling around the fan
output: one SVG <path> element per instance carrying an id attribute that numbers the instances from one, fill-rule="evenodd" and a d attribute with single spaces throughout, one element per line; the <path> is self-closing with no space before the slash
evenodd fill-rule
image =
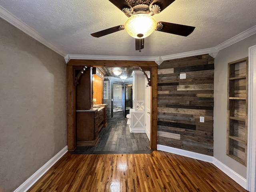
<path id="1" fill-rule="evenodd" d="M 154 17 L 195 26 L 194 32 L 183 37 L 154 31 L 138 52 L 125 30 L 90 35 L 126 21 L 108 0 L 0 0 L 0 6 L 67 54 L 166 56 L 217 46 L 256 25 L 256 0 L 176 0 Z"/>

